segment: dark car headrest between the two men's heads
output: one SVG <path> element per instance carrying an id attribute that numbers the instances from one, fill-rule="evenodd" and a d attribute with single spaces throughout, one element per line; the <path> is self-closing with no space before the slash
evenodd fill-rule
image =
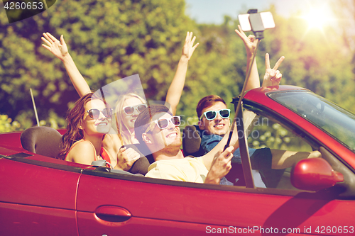
<path id="1" fill-rule="evenodd" d="M 185 126 L 182 133 L 182 150 L 185 156 L 200 157 L 204 154 L 201 150 L 201 130 L 198 125 Z"/>

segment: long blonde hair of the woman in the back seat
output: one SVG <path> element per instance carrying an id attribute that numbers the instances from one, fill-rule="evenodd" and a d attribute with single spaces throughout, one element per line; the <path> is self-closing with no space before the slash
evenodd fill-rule
<path id="1" fill-rule="evenodd" d="M 121 99 L 119 99 L 119 101 L 117 102 L 117 105 L 115 108 L 116 127 L 117 127 L 118 133 L 121 134 L 121 138 L 123 141 L 122 143 L 124 145 L 132 144 L 131 133 L 129 131 L 129 128 L 127 128 L 126 125 L 122 122 L 123 116 L 124 116 L 124 102 L 129 98 L 137 98 L 142 103 L 146 103 L 145 99 L 143 99 L 138 94 L 133 94 L 133 93 L 124 94 L 123 96 L 121 96 Z"/>

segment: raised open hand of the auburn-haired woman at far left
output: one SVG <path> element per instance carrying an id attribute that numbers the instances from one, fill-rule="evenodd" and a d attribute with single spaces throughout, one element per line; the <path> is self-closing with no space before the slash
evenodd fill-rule
<path id="1" fill-rule="evenodd" d="M 60 35 L 60 40 L 56 39 L 50 33 L 43 33 L 43 36 L 44 37 L 41 39 L 47 45 L 43 44 L 42 46 L 52 52 L 55 57 L 58 57 L 60 60 L 64 60 L 65 56 L 69 55 L 67 51 L 67 44 L 64 41 L 63 35 Z"/>

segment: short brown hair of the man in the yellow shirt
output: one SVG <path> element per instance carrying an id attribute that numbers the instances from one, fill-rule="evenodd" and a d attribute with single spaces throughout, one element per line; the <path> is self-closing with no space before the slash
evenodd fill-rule
<path id="1" fill-rule="evenodd" d="M 148 126 L 150 125 L 153 116 L 157 113 L 169 113 L 170 115 L 173 116 L 173 114 L 170 112 L 169 108 L 167 108 L 164 105 L 151 105 L 148 106 L 144 111 L 142 111 L 136 121 L 134 122 L 134 135 L 136 136 L 136 139 L 143 144 L 143 138 L 142 134 L 146 131 Z"/>

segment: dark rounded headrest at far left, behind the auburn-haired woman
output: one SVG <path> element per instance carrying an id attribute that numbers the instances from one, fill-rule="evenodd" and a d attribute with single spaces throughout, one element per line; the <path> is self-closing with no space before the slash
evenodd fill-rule
<path id="1" fill-rule="evenodd" d="M 62 135 L 47 126 L 35 126 L 23 130 L 21 145 L 25 150 L 46 157 L 57 157 L 62 148 Z"/>

